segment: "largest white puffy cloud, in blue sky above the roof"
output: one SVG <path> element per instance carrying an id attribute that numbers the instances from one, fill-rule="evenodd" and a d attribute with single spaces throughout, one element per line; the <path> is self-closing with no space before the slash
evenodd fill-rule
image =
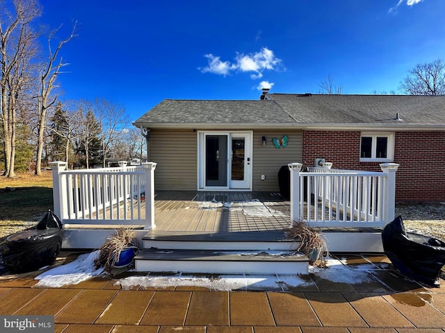
<path id="1" fill-rule="evenodd" d="M 282 60 L 275 57 L 272 50 L 264 47 L 256 53 L 237 53 L 236 62 L 222 61 L 220 57 L 213 56 L 213 54 L 206 54 L 209 64 L 207 67 L 198 68 L 202 73 L 213 73 L 220 75 L 227 75 L 230 71 L 252 72 L 250 77 L 252 79 L 259 79 L 263 77 L 263 71 L 277 71 L 282 67 Z"/>

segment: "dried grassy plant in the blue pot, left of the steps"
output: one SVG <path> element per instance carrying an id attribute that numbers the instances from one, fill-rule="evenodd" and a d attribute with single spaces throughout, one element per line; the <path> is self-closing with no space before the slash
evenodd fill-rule
<path id="1" fill-rule="evenodd" d="M 111 273 L 111 269 L 119 262 L 122 251 L 137 246 L 136 232 L 133 229 L 121 227 L 115 235 L 108 237 L 99 248 L 99 256 L 95 259 L 96 269 L 104 267 L 104 271 Z"/>

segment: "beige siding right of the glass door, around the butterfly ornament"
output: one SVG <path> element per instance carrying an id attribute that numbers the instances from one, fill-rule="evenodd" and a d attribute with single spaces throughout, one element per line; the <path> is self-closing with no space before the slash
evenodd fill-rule
<path id="1" fill-rule="evenodd" d="M 267 138 L 263 146 L 261 137 Z M 287 135 L 289 142 L 286 148 L 277 149 L 272 138 L 281 139 Z M 253 190 L 279 191 L 278 171 L 283 165 L 302 162 L 302 131 L 301 130 L 254 130 L 253 133 Z M 261 180 L 261 175 L 266 180 Z"/>

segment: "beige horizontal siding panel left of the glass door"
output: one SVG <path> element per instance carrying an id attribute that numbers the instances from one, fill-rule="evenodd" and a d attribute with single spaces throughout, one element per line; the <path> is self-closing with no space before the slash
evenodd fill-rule
<path id="1" fill-rule="evenodd" d="M 152 129 L 149 160 L 158 164 L 154 171 L 156 189 L 197 189 L 197 135 L 193 130 Z"/>

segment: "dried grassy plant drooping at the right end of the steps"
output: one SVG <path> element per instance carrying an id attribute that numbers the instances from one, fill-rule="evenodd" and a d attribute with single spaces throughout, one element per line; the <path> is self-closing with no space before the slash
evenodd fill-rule
<path id="1" fill-rule="evenodd" d="M 305 221 L 294 221 L 286 231 L 286 237 L 300 241 L 297 251 L 305 253 L 311 264 L 321 259 L 323 253 L 327 253 L 326 241 L 321 232 L 309 227 Z"/>

